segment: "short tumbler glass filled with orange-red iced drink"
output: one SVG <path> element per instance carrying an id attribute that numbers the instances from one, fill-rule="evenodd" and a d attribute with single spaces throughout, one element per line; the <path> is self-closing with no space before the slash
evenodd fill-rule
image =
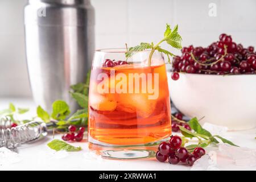
<path id="1" fill-rule="evenodd" d="M 154 156 L 156 145 L 171 135 L 171 106 L 162 53 L 131 52 L 126 59 L 125 48 L 97 50 L 88 108 L 91 150 L 109 159 Z"/>

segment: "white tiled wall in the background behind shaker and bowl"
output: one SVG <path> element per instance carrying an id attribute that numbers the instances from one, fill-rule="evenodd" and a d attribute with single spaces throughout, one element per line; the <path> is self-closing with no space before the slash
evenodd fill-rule
<path id="1" fill-rule="evenodd" d="M 183 46 L 207 46 L 222 32 L 256 46 L 255 0 L 91 0 L 96 48 L 157 42 L 165 24 L 179 24 Z M 0 96 L 30 96 L 23 37 L 26 0 L 0 0 Z M 208 15 L 216 3 L 217 16 Z M 174 51 L 179 53 L 178 51 Z"/>

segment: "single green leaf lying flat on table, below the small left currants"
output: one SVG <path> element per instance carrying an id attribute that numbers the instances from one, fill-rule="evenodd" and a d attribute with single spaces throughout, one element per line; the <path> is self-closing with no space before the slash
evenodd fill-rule
<path id="1" fill-rule="evenodd" d="M 75 152 L 82 150 L 81 147 L 74 147 L 71 144 L 68 144 L 58 139 L 52 140 L 47 144 L 47 146 L 56 151 L 65 150 L 68 152 Z"/>

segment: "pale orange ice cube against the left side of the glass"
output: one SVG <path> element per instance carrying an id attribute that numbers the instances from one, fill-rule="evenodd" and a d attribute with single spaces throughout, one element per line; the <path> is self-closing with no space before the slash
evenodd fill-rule
<path id="1" fill-rule="evenodd" d="M 92 93 L 90 94 L 89 105 L 95 110 L 113 111 L 117 107 L 117 101 L 113 98 Z"/>

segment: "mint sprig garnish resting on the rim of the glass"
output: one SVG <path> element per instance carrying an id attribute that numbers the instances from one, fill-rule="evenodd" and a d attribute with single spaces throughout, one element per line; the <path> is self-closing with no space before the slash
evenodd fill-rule
<path id="1" fill-rule="evenodd" d="M 182 38 L 177 31 L 178 31 L 177 25 L 174 27 L 174 30 L 171 30 L 170 24 L 166 24 L 166 31 L 164 32 L 164 38 L 159 43 L 157 43 L 156 45 L 154 45 L 154 43 L 141 43 L 141 44 L 139 44 L 139 46 L 130 47 L 128 49 L 128 51 L 125 53 L 126 59 L 133 56 L 133 54 L 135 52 L 144 51 L 146 49 L 151 49 L 150 55 L 148 57 L 148 66 L 151 65 L 151 59 L 156 50 L 167 55 L 168 63 L 171 63 L 170 57 L 175 56 L 175 55 L 173 53 L 171 53 L 170 51 L 161 48 L 160 44 L 163 42 L 166 42 L 171 47 L 181 49 L 182 48 L 182 46 L 181 46 Z"/>

